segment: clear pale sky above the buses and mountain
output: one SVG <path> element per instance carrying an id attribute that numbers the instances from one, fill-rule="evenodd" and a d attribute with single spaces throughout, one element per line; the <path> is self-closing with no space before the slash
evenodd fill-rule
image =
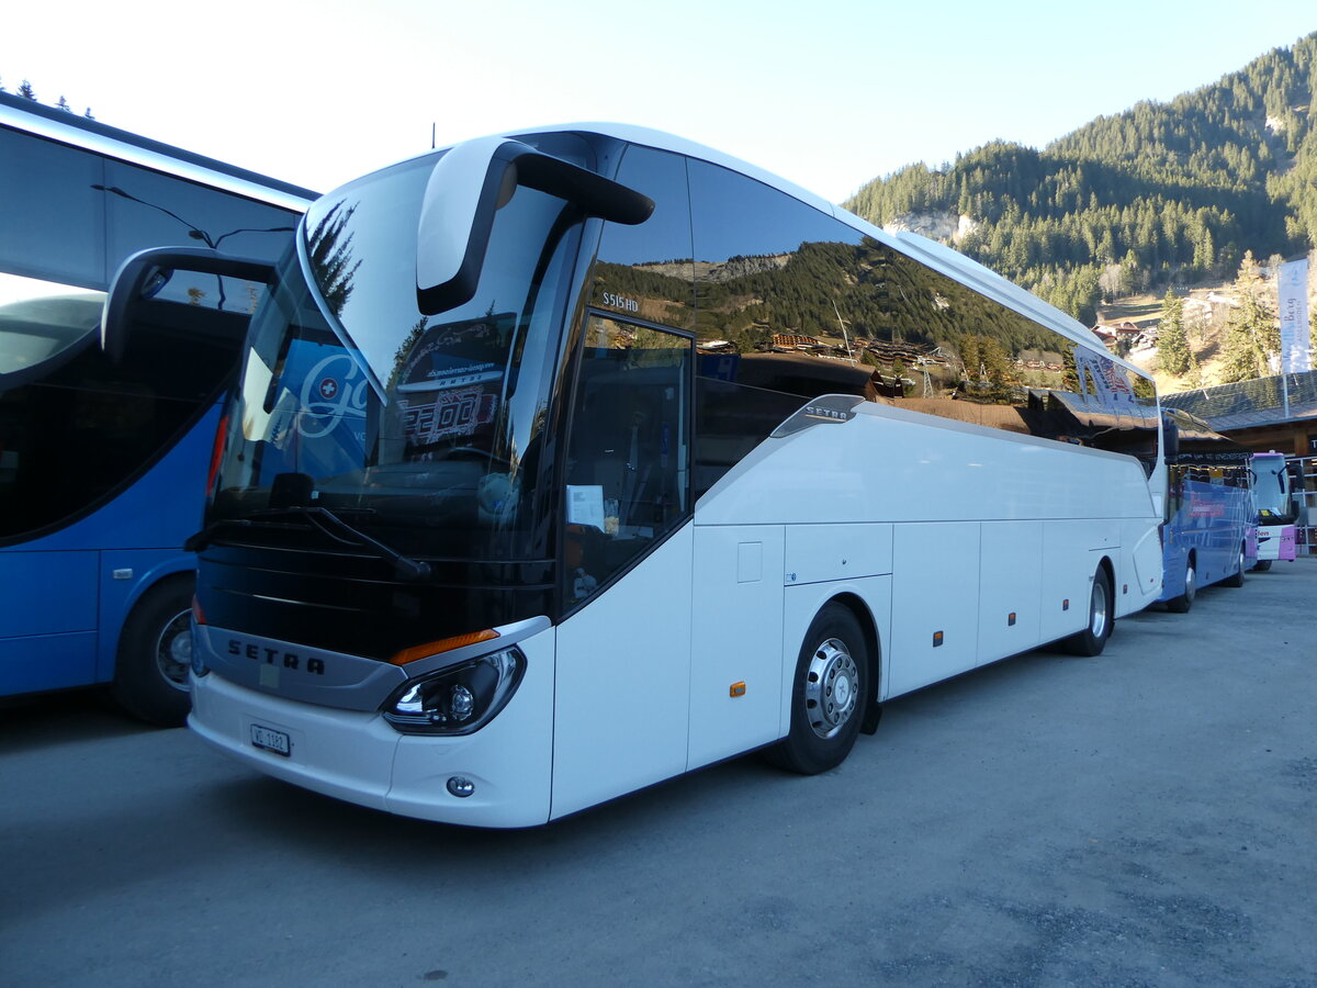
<path id="1" fill-rule="evenodd" d="M 1317 30 L 1314 0 L 63 0 L 0 84 L 328 191 L 578 120 L 712 145 L 828 199 L 994 138 L 1043 146 Z"/>

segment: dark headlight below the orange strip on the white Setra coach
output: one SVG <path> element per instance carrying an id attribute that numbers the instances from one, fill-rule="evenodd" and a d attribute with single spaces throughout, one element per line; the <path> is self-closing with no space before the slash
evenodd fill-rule
<path id="1" fill-rule="evenodd" d="M 524 671 L 516 648 L 440 669 L 394 693 L 385 719 L 403 734 L 471 734 L 507 705 Z"/>

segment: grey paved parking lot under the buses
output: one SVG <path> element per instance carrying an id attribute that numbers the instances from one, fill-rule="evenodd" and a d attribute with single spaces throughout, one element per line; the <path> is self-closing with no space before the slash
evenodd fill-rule
<path id="1" fill-rule="evenodd" d="M 1317 984 L 1317 561 L 548 827 L 382 815 L 83 694 L 0 710 L 0 983 Z"/>

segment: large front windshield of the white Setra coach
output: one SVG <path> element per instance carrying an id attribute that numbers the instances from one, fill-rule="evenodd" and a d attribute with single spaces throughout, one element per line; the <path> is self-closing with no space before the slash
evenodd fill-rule
<path id="1" fill-rule="evenodd" d="M 308 212 L 253 321 L 212 523 L 315 506 L 408 553 L 547 552 L 541 447 L 579 224 L 564 200 L 518 187 L 475 296 L 427 316 L 416 216 L 436 161 Z"/>

